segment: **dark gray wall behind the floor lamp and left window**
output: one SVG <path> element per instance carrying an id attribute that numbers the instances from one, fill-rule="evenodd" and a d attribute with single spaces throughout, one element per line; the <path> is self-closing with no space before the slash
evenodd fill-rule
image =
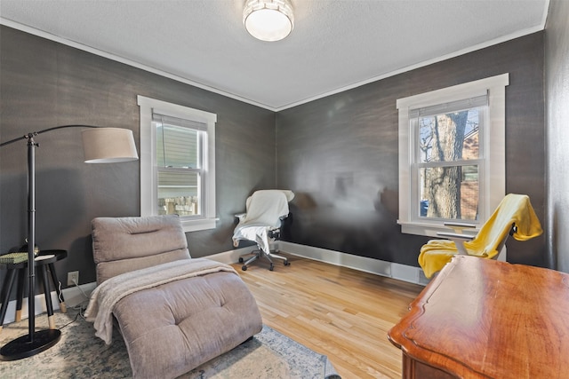
<path id="1" fill-rule="evenodd" d="M 187 234 L 193 257 L 232 249 L 233 215 L 244 210 L 253 189 L 275 186 L 274 112 L 4 26 L 0 48 L 2 142 L 80 123 L 131 129 L 138 146 L 137 95 L 218 115 L 220 221 L 212 231 Z M 140 215 L 139 162 L 85 164 L 80 133 L 56 130 L 36 138 L 36 241 L 40 249 L 68 250 L 68 258 L 56 264 L 64 284 L 68 271 L 78 270 L 81 283 L 95 280 L 93 217 Z M 25 141 L 0 151 L 3 253 L 27 235 L 26 151 Z"/>

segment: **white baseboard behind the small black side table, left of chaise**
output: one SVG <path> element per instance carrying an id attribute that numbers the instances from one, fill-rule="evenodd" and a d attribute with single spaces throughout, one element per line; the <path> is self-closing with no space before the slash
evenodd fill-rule
<path id="1" fill-rule="evenodd" d="M 65 288 L 61 291 L 63 298 L 65 299 L 65 305 L 68 308 L 74 307 L 78 304 L 81 304 L 89 300 L 88 296 L 91 296 L 91 292 L 95 287 L 97 287 L 97 283 L 93 282 L 93 283 L 82 284 L 79 287 L 81 289 L 77 287 L 72 287 L 72 288 Z M 52 291 L 51 295 L 52 295 L 53 311 L 57 311 L 60 309 L 60 302 L 57 298 L 57 293 L 55 291 Z M 34 299 L 35 299 L 34 307 L 36 315 L 47 312 L 47 305 L 45 305 L 44 294 L 36 295 Z M 16 315 L 16 300 L 12 300 L 10 303 L 8 303 L 6 316 L 4 317 L 4 325 L 13 322 L 15 320 L 15 315 Z M 21 307 L 21 318 L 22 320 L 28 319 L 28 297 L 24 297 L 23 299 Z"/>

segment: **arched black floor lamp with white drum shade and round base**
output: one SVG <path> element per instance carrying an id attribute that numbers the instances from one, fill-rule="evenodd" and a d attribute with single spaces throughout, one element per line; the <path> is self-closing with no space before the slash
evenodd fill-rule
<path id="1" fill-rule="evenodd" d="M 15 360 L 36 355 L 47 350 L 61 337 L 59 329 L 36 331 L 36 267 L 34 249 L 36 246 L 36 143 L 39 134 L 65 128 L 84 128 L 83 147 L 86 163 L 112 163 L 137 160 L 138 154 L 132 136 L 132 130 L 122 128 L 102 128 L 91 125 L 62 125 L 33 131 L 20 138 L 14 138 L 0 144 L 0 147 L 14 142 L 28 140 L 28 335 L 20 336 L 0 349 L 0 359 Z M 48 288 L 44 288 L 48 290 Z"/>

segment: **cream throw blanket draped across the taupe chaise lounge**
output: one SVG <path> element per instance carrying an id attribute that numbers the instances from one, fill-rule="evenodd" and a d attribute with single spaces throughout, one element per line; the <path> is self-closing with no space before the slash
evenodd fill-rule
<path id="1" fill-rule="evenodd" d="M 205 258 L 182 259 L 141 270 L 125 272 L 105 280 L 92 291 L 85 317 L 94 323 L 95 336 L 110 344 L 113 335 L 112 312 L 115 304 L 134 292 L 212 272 L 237 272 L 229 265 Z"/>

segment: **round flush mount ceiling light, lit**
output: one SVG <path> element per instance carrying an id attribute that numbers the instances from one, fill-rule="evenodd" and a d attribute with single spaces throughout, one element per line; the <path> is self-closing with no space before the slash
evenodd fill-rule
<path id="1" fill-rule="evenodd" d="M 251 36 L 261 41 L 279 41 L 294 28 L 293 5 L 289 0 L 247 0 L 243 24 Z"/>

